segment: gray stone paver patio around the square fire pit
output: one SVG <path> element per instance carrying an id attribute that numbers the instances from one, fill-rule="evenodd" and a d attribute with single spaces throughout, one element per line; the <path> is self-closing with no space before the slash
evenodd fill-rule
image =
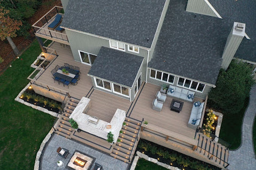
<path id="1" fill-rule="evenodd" d="M 69 150 L 68 157 L 62 158 L 58 155 L 57 148 L 62 147 Z M 95 159 L 95 163 L 98 163 L 103 166 L 104 170 L 121 170 L 127 169 L 128 164 L 124 163 L 121 160 L 115 159 L 107 154 L 104 154 L 100 151 L 94 150 L 90 147 L 82 145 L 76 141 L 67 139 L 62 137 L 61 135 L 54 134 L 52 139 L 49 141 L 49 144 L 44 149 L 44 153 L 42 155 L 41 160 L 41 168 L 42 170 L 59 170 L 59 169 L 67 169 L 66 166 L 69 162 L 69 159 L 73 156 L 75 150 L 81 151 L 87 155 L 90 155 Z M 64 164 L 62 167 L 58 167 L 57 162 L 61 160 Z M 93 166 L 92 166 L 93 169 Z"/>

